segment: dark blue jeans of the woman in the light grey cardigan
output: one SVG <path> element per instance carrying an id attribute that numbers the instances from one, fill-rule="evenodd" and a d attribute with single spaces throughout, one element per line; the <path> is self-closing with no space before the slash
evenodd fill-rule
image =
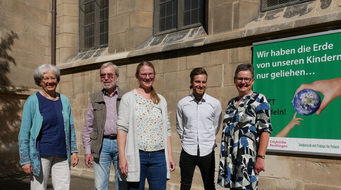
<path id="1" fill-rule="evenodd" d="M 139 150 L 140 181 L 127 182 L 128 189 L 145 190 L 146 178 L 149 190 L 165 190 L 167 183 L 167 165 L 164 149 L 158 151 Z"/>

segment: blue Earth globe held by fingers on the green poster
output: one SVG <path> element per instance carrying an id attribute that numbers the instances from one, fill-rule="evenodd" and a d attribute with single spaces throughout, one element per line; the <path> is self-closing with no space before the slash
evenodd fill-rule
<path id="1" fill-rule="evenodd" d="M 315 90 L 305 89 L 295 95 L 293 105 L 297 113 L 310 115 L 319 109 L 321 98 Z"/>

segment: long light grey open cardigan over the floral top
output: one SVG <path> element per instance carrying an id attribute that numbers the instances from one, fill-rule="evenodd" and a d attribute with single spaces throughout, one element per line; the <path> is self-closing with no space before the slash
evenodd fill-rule
<path id="1" fill-rule="evenodd" d="M 168 164 L 168 150 L 167 150 L 167 137 L 172 136 L 171 123 L 168 120 L 167 102 L 158 94 L 160 97 L 161 112 L 162 112 L 162 123 L 163 123 L 163 134 L 165 139 L 165 157 L 167 165 L 167 179 L 171 178 L 169 173 Z M 126 141 L 126 159 L 128 162 L 128 176 L 124 176 L 120 173 L 120 180 L 123 181 L 139 181 L 140 179 L 140 162 L 138 153 L 138 136 L 136 130 L 136 100 L 133 96 L 132 91 L 127 92 L 123 95 L 119 107 L 119 119 L 117 121 L 117 130 L 122 130 L 127 133 Z"/>

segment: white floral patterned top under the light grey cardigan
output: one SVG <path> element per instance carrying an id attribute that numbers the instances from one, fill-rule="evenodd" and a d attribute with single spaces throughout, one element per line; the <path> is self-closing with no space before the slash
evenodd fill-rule
<path id="1" fill-rule="evenodd" d="M 154 104 L 133 90 L 136 100 L 136 127 L 138 133 L 138 147 L 144 151 L 164 149 L 164 135 L 162 129 L 161 104 Z"/>

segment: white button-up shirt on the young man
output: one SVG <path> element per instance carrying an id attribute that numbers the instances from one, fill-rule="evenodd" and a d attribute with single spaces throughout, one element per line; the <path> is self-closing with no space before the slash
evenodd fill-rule
<path id="1" fill-rule="evenodd" d="M 197 102 L 193 94 L 181 99 L 177 107 L 177 131 L 182 148 L 190 155 L 205 156 L 215 148 L 221 122 L 220 102 L 204 94 Z"/>

